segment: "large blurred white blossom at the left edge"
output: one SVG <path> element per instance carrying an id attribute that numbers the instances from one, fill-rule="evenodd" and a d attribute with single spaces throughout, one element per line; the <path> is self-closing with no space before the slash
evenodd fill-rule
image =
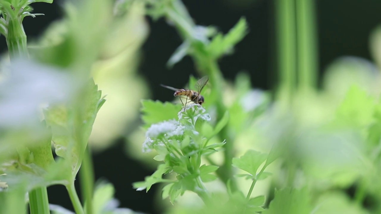
<path id="1" fill-rule="evenodd" d="M 24 59 L 1 72 L 0 127 L 35 126 L 41 105 L 67 101 L 77 87 L 68 72 Z"/>

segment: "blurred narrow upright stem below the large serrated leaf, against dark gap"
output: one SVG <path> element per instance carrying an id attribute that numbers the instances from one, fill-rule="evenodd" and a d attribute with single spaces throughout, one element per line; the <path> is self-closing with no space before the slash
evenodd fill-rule
<path id="1" fill-rule="evenodd" d="M 86 213 L 93 213 L 94 169 L 89 145 L 87 145 L 85 152 L 83 153 L 83 160 L 80 168 L 80 181 L 82 201 L 85 201 Z"/>

